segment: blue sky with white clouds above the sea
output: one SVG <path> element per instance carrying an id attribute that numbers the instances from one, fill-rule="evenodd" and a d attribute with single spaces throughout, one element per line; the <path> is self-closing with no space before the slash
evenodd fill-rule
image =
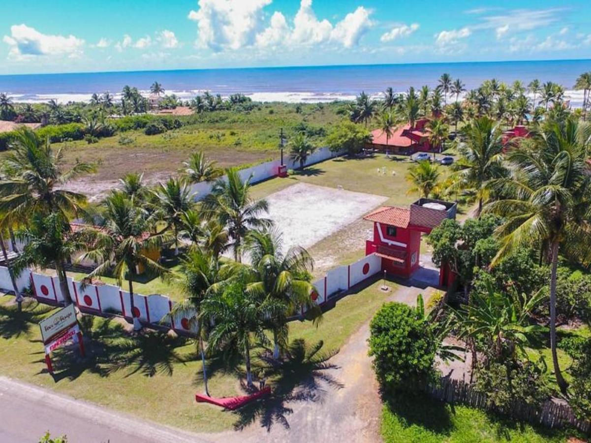
<path id="1" fill-rule="evenodd" d="M 0 74 L 587 58 L 588 0 L 3 0 L 0 15 Z"/>

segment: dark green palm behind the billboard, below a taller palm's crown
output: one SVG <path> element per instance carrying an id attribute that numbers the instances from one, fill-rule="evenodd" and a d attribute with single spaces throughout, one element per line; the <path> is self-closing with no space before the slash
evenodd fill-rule
<path id="1" fill-rule="evenodd" d="M 35 212 L 16 235 L 25 245 L 14 260 L 15 274 L 20 275 L 29 266 L 41 269 L 54 267 L 64 303 L 72 303 L 65 266 L 74 254 L 85 247 L 85 243 L 74 235 L 67 218 L 59 212 L 49 215 Z"/>

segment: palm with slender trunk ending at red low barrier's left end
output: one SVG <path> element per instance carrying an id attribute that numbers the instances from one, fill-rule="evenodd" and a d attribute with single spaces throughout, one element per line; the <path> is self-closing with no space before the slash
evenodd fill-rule
<path id="1" fill-rule="evenodd" d="M 197 347 L 201 354 L 203 370 L 203 383 L 205 394 L 209 396 L 207 388 L 207 369 L 205 364 L 205 348 L 203 336 L 205 329 L 203 322 L 199 321 L 201 305 L 203 300 L 215 293 L 219 282 L 219 261 L 217 257 L 207 254 L 202 248 L 193 248 L 187 257 L 181 260 L 180 265 L 180 286 L 186 295 L 180 303 L 175 303 L 170 312 L 171 318 L 182 316 L 189 319 L 191 328 L 196 326 Z"/>

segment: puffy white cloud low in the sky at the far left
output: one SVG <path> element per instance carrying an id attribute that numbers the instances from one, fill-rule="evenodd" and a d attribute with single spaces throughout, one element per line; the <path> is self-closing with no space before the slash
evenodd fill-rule
<path id="1" fill-rule="evenodd" d="M 78 57 L 82 55 L 85 41 L 74 35 L 50 35 L 42 34 L 35 28 L 25 24 L 12 25 L 11 35 L 4 35 L 2 41 L 8 44 L 9 57 L 16 59 L 31 58 L 35 56 L 62 56 Z"/>

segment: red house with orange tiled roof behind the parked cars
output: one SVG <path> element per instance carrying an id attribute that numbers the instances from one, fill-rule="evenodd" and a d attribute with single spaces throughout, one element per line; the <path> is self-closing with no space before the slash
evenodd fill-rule
<path id="1" fill-rule="evenodd" d="M 368 147 L 389 151 L 393 154 L 414 154 L 417 151 L 432 151 L 429 141 L 430 131 L 426 128 L 428 119 L 421 118 L 415 122 L 413 128 L 406 124 L 391 135 L 386 134 L 381 129 L 372 131 L 372 143 Z M 388 140 L 386 140 L 388 139 Z"/>

